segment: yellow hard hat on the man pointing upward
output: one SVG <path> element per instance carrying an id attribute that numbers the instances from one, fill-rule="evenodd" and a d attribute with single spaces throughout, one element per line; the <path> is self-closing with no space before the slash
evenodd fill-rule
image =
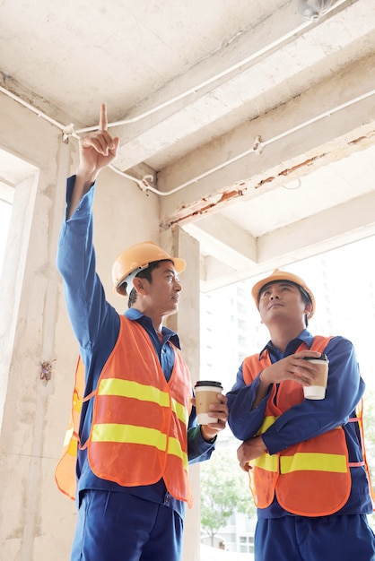
<path id="1" fill-rule="evenodd" d="M 121 296 L 126 296 L 126 285 L 138 272 L 142 271 L 153 261 L 169 259 L 177 272 L 185 269 L 186 263 L 179 257 L 171 257 L 166 251 L 153 242 L 141 242 L 123 251 L 112 266 L 113 289 Z"/>

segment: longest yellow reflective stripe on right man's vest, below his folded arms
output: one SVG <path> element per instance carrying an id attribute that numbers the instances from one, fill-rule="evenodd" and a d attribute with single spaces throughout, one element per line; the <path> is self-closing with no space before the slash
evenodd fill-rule
<path id="1" fill-rule="evenodd" d="M 344 455 L 333 453 L 295 453 L 293 456 L 280 458 L 281 473 L 292 471 L 334 471 L 346 473 L 347 464 Z"/>

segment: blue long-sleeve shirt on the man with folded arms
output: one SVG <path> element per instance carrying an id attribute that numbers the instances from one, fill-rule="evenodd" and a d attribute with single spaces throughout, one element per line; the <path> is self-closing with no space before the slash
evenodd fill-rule
<path id="1" fill-rule="evenodd" d="M 287 345 L 285 352 L 277 350 L 269 341 L 259 357 L 267 349 L 271 363 L 292 355 L 301 342 L 312 344 L 313 335 L 304 330 Z M 364 392 L 364 382 L 359 372 L 357 358 L 351 341 L 343 337 L 334 337 L 324 350 L 329 359 L 329 375 L 326 399 L 314 401 L 303 400 L 285 411 L 275 423 L 262 434 L 268 453 L 278 453 L 292 444 L 308 440 L 326 433 L 332 428 L 342 426 L 349 453 L 349 462 L 362 461 L 362 445 L 357 423 L 349 423 L 357 404 Z M 254 381 L 246 385 L 243 378 L 242 365 L 237 374 L 236 382 L 227 393 L 229 419 L 228 423 L 237 438 L 249 440 L 257 435 L 266 414 L 266 402 L 271 393 L 272 384 L 266 397 L 252 405 L 257 395 L 259 374 Z M 352 489 L 349 499 L 337 514 L 370 514 L 372 512 L 369 482 L 363 467 L 351 468 Z M 264 509 L 257 509 L 259 518 L 276 518 L 287 513 L 278 504 L 277 499 Z"/>

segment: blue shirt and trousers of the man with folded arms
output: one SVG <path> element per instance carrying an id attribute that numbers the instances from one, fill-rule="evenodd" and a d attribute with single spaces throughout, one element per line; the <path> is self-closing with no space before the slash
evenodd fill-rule
<path id="1" fill-rule="evenodd" d="M 271 363 L 292 355 L 305 342 L 310 349 L 313 335 L 304 330 L 290 341 L 282 353 L 269 341 L 259 357 L 268 351 Z M 268 453 L 278 453 L 292 444 L 342 426 L 349 462 L 362 462 L 358 423 L 348 422 L 362 399 L 364 382 L 353 344 L 334 337 L 324 350 L 329 359 L 326 399 L 303 400 L 285 411 L 262 434 Z M 246 385 L 242 365 L 236 382 L 227 393 L 228 423 L 237 438 L 249 440 L 257 435 L 266 412 L 272 384 L 266 397 L 252 409 L 259 385 L 259 373 Z M 257 508 L 255 557 L 257 561 L 375 561 L 375 538 L 367 521 L 372 512 L 369 480 L 364 467 L 351 468 L 352 487 L 346 504 L 329 516 L 299 516 L 285 511 L 274 498 L 266 508 Z M 308 476 L 307 485 L 309 484 Z"/>

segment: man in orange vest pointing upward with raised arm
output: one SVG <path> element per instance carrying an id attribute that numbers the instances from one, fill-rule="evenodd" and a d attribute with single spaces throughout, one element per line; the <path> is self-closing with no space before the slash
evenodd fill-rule
<path id="1" fill-rule="evenodd" d="M 179 308 L 182 259 L 153 242 L 130 246 L 112 270 L 114 289 L 129 297 L 125 315 L 106 300 L 92 246 L 95 180 L 118 151 L 105 106 L 99 130 L 79 146 L 57 255 L 80 346 L 77 374 L 84 369 L 84 390 L 77 377 L 74 392 L 74 410 L 82 410 L 79 427 L 77 418 L 72 426 L 78 519 L 71 560 L 179 561 L 191 504 L 188 462 L 213 452 L 228 416 L 226 397 L 211 408 L 214 422 L 197 426 L 179 337 L 163 325 Z M 69 494 L 65 471 L 62 460 L 57 484 Z"/>

